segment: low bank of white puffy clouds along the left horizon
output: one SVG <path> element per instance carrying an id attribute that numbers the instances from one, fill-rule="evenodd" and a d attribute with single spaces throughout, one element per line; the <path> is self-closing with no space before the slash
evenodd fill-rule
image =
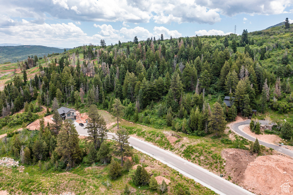
<path id="1" fill-rule="evenodd" d="M 7 25 L 2 25 L 7 23 Z M 99 45 L 100 40 L 104 39 L 106 44 L 127 42 L 132 40 L 135 36 L 139 40 L 146 40 L 147 37 L 164 36 L 179 37 L 181 33 L 177 30 L 169 30 L 163 26 L 154 27 L 153 32 L 143 28 L 125 28 L 115 29 L 112 25 L 98 25 L 93 35 L 86 34 L 77 25 L 80 22 L 74 23 L 35 23 L 22 19 L 20 21 L 12 20 L 11 18 L 0 18 L 0 42 L 18 43 L 19 40 L 22 44 L 34 45 L 47 45 L 47 46 L 60 46 L 60 47 L 76 47 L 78 45 L 93 43 Z"/>

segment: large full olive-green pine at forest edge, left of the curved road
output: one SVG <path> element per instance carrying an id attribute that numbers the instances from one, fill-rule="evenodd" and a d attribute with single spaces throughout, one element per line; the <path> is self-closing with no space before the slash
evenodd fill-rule
<path id="1" fill-rule="evenodd" d="M 214 104 L 212 115 L 209 117 L 209 131 L 215 132 L 216 136 L 218 136 L 218 133 L 224 132 L 225 129 L 226 120 L 224 117 L 223 108 L 218 102 L 216 102 Z"/>

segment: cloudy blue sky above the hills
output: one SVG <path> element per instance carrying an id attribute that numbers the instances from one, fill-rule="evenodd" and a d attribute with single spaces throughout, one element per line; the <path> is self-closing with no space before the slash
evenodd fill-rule
<path id="1" fill-rule="evenodd" d="M 0 0 L 0 44 L 73 48 L 148 37 L 241 34 L 289 18 L 293 0 Z"/>

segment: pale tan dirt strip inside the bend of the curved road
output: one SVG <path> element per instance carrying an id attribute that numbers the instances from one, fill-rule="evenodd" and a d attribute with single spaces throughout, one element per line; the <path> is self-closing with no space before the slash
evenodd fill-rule
<path id="1" fill-rule="evenodd" d="M 250 135 L 251 137 L 258 138 L 258 140 L 266 142 L 266 143 L 275 144 L 275 143 L 282 142 L 282 138 L 280 138 L 277 135 L 268 135 L 268 134 L 259 134 L 259 135 L 257 135 L 255 133 L 251 132 L 250 129 L 249 129 L 249 124 L 240 125 L 239 129 L 241 131 L 245 132 L 246 134 Z"/>

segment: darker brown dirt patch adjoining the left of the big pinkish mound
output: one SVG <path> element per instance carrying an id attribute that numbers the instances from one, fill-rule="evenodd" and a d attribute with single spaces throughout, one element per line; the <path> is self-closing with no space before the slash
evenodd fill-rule
<path id="1" fill-rule="evenodd" d="M 228 148 L 222 151 L 222 158 L 226 160 L 226 178 L 231 177 L 233 182 L 242 182 L 244 172 L 249 163 L 255 160 L 255 156 L 247 150 Z"/>

